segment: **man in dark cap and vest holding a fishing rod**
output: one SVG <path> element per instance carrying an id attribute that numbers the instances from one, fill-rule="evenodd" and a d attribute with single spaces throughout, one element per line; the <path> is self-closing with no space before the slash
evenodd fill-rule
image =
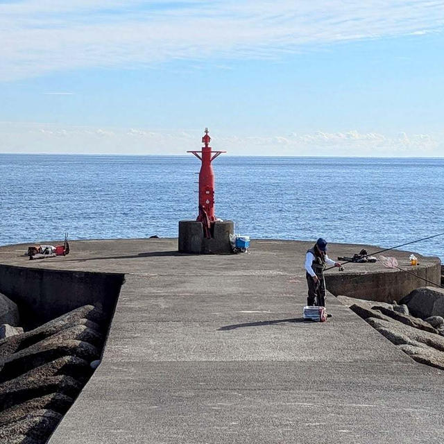
<path id="1" fill-rule="evenodd" d="M 340 267 L 327 256 L 327 241 L 320 237 L 313 248 L 305 256 L 305 271 L 308 284 L 307 305 L 325 307 L 325 279 L 324 270 L 327 265 Z"/>

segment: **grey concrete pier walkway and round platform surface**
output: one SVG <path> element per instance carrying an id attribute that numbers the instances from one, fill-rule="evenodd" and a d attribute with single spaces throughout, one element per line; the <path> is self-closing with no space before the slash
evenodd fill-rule
<path id="1" fill-rule="evenodd" d="M 75 241 L 69 256 L 40 261 L 0 248 L 1 267 L 125 275 L 101 365 L 49 442 L 441 442 L 441 371 L 333 296 L 327 323 L 302 320 L 311 245 L 202 256 L 176 253 L 177 239 Z M 335 259 L 365 246 L 329 247 Z M 407 266 L 408 253 L 390 255 Z M 432 276 L 439 260 L 420 264 Z M 405 273 L 379 263 L 350 264 L 341 279 L 352 288 L 389 273 L 402 289 Z"/>

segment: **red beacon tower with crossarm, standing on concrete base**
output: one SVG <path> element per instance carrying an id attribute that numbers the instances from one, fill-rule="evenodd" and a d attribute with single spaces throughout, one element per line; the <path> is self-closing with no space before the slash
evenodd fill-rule
<path id="1" fill-rule="evenodd" d="M 221 153 L 226 151 L 212 151 L 210 146 L 211 137 L 208 135 L 208 128 L 205 128 L 205 135 L 202 137 L 202 151 L 187 151 L 193 153 L 202 161 L 199 172 L 199 214 L 197 221 L 203 223 L 205 234 L 210 237 L 211 223 L 216 221 L 214 215 L 214 172 L 211 162 Z"/>

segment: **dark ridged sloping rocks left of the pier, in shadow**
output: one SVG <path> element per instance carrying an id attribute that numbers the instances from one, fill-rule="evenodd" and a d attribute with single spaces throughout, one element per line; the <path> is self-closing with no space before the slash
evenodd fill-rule
<path id="1" fill-rule="evenodd" d="M 85 305 L 0 340 L 0 443 L 46 443 L 91 377 L 105 329 Z"/>

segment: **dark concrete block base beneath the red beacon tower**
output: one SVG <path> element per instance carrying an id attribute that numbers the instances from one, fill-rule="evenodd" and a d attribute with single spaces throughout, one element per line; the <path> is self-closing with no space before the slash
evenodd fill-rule
<path id="1" fill-rule="evenodd" d="M 211 224 L 211 237 L 203 232 L 203 223 L 179 221 L 179 253 L 216 255 L 232 253 L 230 234 L 234 234 L 232 221 L 216 221 Z"/>

